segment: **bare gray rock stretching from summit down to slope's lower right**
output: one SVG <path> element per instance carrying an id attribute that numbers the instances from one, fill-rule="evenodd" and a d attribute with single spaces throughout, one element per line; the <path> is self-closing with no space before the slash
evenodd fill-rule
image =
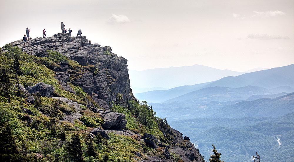
<path id="1" fill-rule="evenodd" d="M 22 40 L 12 42 L 11 44 L 20 48 L 23 47 Z M 110 107 L 113 103 L 117 102 L 117 94 L 122 96 L 121 104 L 126 104 L 128 100 L 134 99 L 134 96 L 129 85 L 127 60 L 112 53 L 109 46 L 101 47 L 99 44 L 88 45 L 86 37 L 71 37 L 68 33 L 59 33 L 45 39 L 31 39 L 30 47 L 23 48 L 23 51 L 27 54 L 37 57 L 46 57 L 48 55 L 47 50 L 64 54 L 80 65 L 94 65 L 96 67 L 97 72 L 95 74 L 93 72 L 83 73 L 73 84 L 90 94 L 99 107 L 91 104 L 82 105 L 66 97 L 54 97 L 53 85 L 46 85 L 43 82 L 26 88 L 19 85 L 20 89 L 26 92 L 30 103 L 34 103 L 33 94 L 61 100 L 73 106 L 76 110 L 76 113 L 64 114 L 64 118 L 60 121 L 69 121 L 71 123 L 74 123 L 74 120 L 83 116 L 80 111 L 83 107 L 86 107 L 94 113 L 99 113 L 104 120 L 104 124 L 101 125 L 102 128 L 98 127 L 89 132 L 92 137 L 100 135 L 102 138 L 108 139 L 109 133 L 116 133 L 118 135 L 130 136 L 154 150 L 163 150 L 164 158 L 142 155 L 139 152 L 136 153 L 136 156 L 140 157 L 142 162 L 172 162 L 171 153 L 177 154 L 185 162 L 204 162 L 203 157 L 190 142 L 190 139 L 186 136 L 183 138 L 183 134 L 177 130 L 171 128 L 173 133 L 171 144 L 166 144 L 148 133 L 140 135 L 130 130 L 124 130 L 127 123 L 125 115 L 112 112 Z M 68 63 L 63 62 L 59 66 L 59 68 L 54 70 L 55 78 L 60 82 L 64 90 L 75 94 L 75 90 L 68 85 L 68 81 L 71 79 Z M 29 110 L 24 111 L 31 113 Z"/>

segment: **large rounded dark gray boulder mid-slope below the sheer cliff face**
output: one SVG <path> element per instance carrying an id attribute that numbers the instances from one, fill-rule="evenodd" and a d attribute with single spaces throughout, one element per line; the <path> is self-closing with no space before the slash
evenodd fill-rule
<path id="1" fill-rule="evenodd" d="M 125 117 L 124 114 L 118 112 L 107 113 L 103 117 L 105 120 L 103 128 L 110 130 L 125 129 L 127 124 Z"/>

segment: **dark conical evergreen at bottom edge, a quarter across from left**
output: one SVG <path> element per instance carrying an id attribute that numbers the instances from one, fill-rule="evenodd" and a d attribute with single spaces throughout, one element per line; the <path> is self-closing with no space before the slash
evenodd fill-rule
<path id="1" fill-rule="evenodd" d="M 78 137 L 78 133 L 74 133 L 71 135 L 69 140 L 66 142 L 66 149 L 71 155 L 71 159 L 76 162 L 83 161 L 83 151 L 81 146 L 81 140 Z"/>

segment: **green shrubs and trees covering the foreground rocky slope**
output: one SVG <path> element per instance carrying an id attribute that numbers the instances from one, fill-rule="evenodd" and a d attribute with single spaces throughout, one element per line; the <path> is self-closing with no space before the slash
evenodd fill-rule
<path id="1" fill-rule="evenodd" d="M 145 143 L 132 137 L 109 134 L 109 139 L 100 135 L 92 138 L 89 131 L 100 127 L 103 118 L 83 107 L 80 120 L 74 123 L 60 122 L 65 114 L 76 113 L 76 110 L 50 97 L 34 95 L 35 102 L 27 101 L 27 95 L 21 91 L 18 84 L 27 86 L 38 82 L 54 85 L 54 96 L 67 97 L 82 105 L 92 103 L 91 96 L 71 84 L 84 72 L 97 70 L 94 65 L 81 66 L 62 54 L 47 51 L 47 57 L 35 57 L 21 52 L 18 47 L 5 46 L 5 52 L 0 49 L 0 161 L 30 161 L 30 162 L 128 162 L 135 158 L 138 161 L 145 158 L 143 154 L 164 158 L 161 148 L 153 150 Z M 54 78 L 54 69 L 59 63 L 68 62 L 71 74 L 69 85 L 76 94 L 65 91 Z M 128 105 L 124 107 L 123 105 Z M 166 119 L 155 117 L 152 107 L 137 101 L 122 104 L 121 94 L 117 95 L 113 110 L 126 114 L 128 124 L 126 129 L 135 133 L 151 133 L 166 144 L 173 138 Z M 143 156 L 138 157 L 136 153 Z"/>

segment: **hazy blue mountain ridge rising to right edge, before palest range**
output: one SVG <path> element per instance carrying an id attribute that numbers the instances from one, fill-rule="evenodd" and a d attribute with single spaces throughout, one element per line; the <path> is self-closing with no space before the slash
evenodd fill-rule
<path id="1" fill-rule="evenodd" d="M 139 100 L 147 102 L 161 103 L 166 100 L 184 95 L 189 92 L 200 90 L 206 87 L 245 87 L 257 86 L 266 89 L 271 89 L 272 92 L 284 92 L 288 88 L 288 92 L 293 92 L 294 89 L 294 64 L 276 67 L 268 70 L 250 72 L 238 76 L 224 77 L 213 82 L 196 84 L 191 86 L 175 87 L 169 90 L 150 91 L 145 93 L 135 94 Z"/>

